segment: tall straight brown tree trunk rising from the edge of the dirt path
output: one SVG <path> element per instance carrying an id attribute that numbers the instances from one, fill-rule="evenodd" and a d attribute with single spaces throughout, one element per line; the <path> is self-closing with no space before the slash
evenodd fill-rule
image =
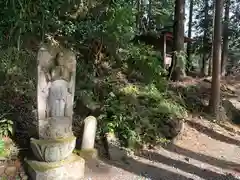
<path id="1" fill-rule="evenodd" d="M 221 72 L 221 31 L 222 31 L 223 0 L 215 1 L 214 41 L 213 41 L 213 69 L 211 96 L 209 100 L 210 112 L 218 119 L 220 106 L 220 72 Z"/>

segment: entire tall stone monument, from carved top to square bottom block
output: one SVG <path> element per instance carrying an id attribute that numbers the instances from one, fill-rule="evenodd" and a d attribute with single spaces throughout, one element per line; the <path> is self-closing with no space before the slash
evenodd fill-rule
<path id="1" fill-rule="evenodd" d="M 72 132 L 76 57 L 60 46 L 38 52 L 37 105 L 39 138 L 30 139 L 35 159 L 26 159 L 33 180 L 80 180 L 85 161 L 73 155 Z"/>

